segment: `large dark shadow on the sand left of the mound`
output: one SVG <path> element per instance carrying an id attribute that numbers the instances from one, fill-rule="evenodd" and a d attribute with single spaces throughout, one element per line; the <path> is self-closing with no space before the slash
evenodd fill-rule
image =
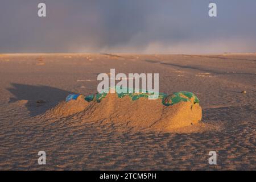
<path id="1" fill-rule="evenodd" d="M 73 92 L 51 86 L 16 83 L 11 85 L 12 87 L 7 88 L 7 90 L 14 97 L 10 98 L 9 103 L 23 101 L 31 116 L 45 113 L 48 109 L 55 107 L 60 101 L 64 101 L 68 94 L 73 94 Z"/>

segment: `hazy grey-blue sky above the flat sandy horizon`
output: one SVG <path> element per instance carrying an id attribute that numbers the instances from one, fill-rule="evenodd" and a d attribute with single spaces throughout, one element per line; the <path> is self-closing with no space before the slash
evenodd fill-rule
<path id="1" fill-rule="evenodd" d="M 38 17 L 38 3 L 47 17 Z M 208 16 L 210 2 L 216 18 Z M 256 52 L 255 0 L 1 0 L 0 52 Z"/>

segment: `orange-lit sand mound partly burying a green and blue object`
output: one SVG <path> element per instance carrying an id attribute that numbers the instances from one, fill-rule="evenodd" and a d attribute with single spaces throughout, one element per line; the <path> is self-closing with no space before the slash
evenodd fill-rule
<path id="1" fill-rule="evenodd" d="M 129 97 L 130 96 L 130 97 Z M 189 92 L 160 95 L 148 100 L 148 94 L 69 95 L 67 101 L 47 111 L 55 117 L 79 113 L 83 121 L 113 123 L 134 130 L 170 131 L 196 125 L 202 118 L 199 100 Z"/>

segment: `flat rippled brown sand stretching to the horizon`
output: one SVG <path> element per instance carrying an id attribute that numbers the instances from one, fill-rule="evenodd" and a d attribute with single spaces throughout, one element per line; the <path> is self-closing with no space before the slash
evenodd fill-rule
<path id="1" fill-rule="evenodd" d="M 68 94 L 96 93 L 98 73 L 110 68 L 159 73 L 160 92 L 195 93 L 201 122 L 168 131 L 164 125 L 143 129 L 141 123 L 161 117 L 163 107 L 143 98 L 136 103 L 122 98 L 133 107 L 127 113 L 110 97 L 89 113 L 82 101 L 63 105 Z M 256 169 L 256 54 L 2 54 L 0 77 L 2 170 Z M 47 164 L 39 166 L 42 150 Z M 212 150 L 217 165 L 208 163 Z"/>

